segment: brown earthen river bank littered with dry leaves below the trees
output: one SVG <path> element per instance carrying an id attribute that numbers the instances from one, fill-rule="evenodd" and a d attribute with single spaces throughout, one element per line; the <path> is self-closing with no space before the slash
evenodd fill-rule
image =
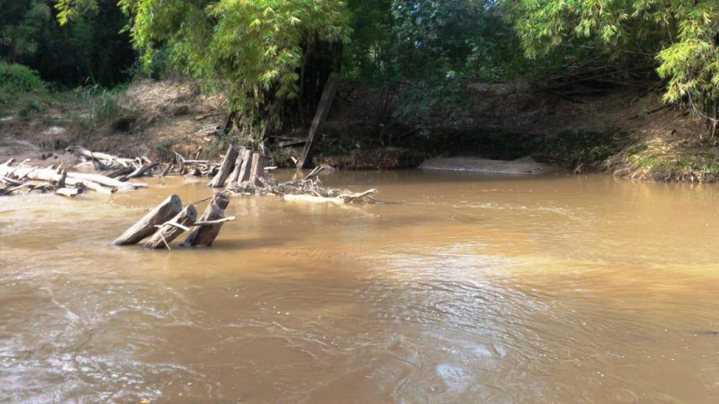
<path id="1" fill-rule="evenodd" d="M 609 86 L 534 91 L 523 83 L 474 83 L 457 116 L 421 134 L 393 115 L 396 94 L 344 81 L 315 154 L 341 169 L 416 167 L 430 157 L 531 156 L 576 173 L 636 180 L 714 182 L 719 152 L 699 119 L 654 93 Z M 127 88 L 24 94 L 0 105 L 0 158 L 78 160 L 70 144 L 116 155 L 218 159 L 247 139 L 224 131 L 225 100 L 196 83 L 138 81 Z M 273 165 L 290 167 L 306 127 L 270 139 Z M 288 146 L 295 142 L 296 144 Z"/>

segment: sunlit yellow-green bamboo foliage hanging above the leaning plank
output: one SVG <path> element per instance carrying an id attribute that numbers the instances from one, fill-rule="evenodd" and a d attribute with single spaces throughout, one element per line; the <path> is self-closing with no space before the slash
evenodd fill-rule
<path id="1" fill-rule="evenodd" d="M 269 109 L 300 90 L 305 50 L 346 42 L 348 14 L 339 0 L 119 1 L 132 16 L 134 46 L 150 65 L 159 46 L 182 73 L 222 88 L 235 111 Z"/>

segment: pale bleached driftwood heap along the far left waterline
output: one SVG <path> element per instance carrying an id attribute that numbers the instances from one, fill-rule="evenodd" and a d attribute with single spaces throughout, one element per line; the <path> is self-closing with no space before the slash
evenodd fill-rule
<path id="1" fill-rule="evenodd" d="M 13 165 L 10 159 L 0 164 L 0 196 L 24 191 L 50 192 L 74 198 L 86 190 L 114 193 L 118 189 L 147 188 L 144 183 L 128 183 L 108 175 L 70 173 L 60 167 L 28 167 L 29 160 Z M 127 181 L 127 179 L 125 180 Z"/>

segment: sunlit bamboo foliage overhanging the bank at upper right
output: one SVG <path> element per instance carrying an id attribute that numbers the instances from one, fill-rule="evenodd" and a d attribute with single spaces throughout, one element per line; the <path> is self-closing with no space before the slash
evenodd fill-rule
<path id="1" fill-rule="evenodd" d="M 719 109 L 716 0 L 505 1 L 528 58 L 562 45 L 588 45 L 618 59 L 648 54 L 667 79 L 664 100 Z"/>

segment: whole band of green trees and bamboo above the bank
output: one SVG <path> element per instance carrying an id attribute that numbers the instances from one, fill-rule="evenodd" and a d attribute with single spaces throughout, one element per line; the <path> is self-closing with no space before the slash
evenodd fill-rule
<path id="1" fill-rule="evenodd" d="M 188 76 L 226 93 L 239 129 L 255 136 L 267 124 L 306 126 L 332 72 L 391 93 L 380 104 L 422 137 L 439 125 L 467 124 L 467 83 L 518 78 L 555 89 L 629 82 L 695 111 L 710 130 L 719 118 L 715 0 L 0 5 L 0 58 L 6 62 L 0 69 L 17 72 L 4 79 L 14 86 L 37 75 L 59 86 Z"/>

